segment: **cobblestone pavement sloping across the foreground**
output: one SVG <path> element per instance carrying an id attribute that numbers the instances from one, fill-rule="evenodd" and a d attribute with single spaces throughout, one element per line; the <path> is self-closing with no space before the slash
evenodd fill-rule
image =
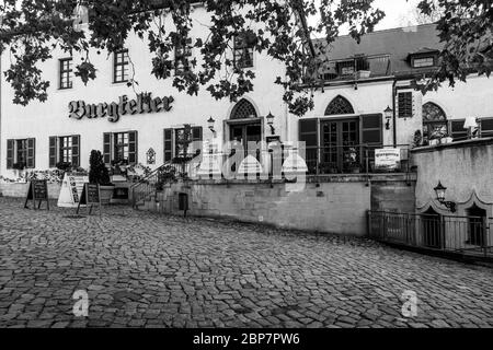
<path id="1" fill-rule="evenodd" d="M 493 326 L 485 267 L 125 207 L 79 219 L 21 208 L 0 198 L 1 327 Z M 72 313 L 77 290 L 89 317 Z M 416 317 L 401 314 L 405 290 Z"/>

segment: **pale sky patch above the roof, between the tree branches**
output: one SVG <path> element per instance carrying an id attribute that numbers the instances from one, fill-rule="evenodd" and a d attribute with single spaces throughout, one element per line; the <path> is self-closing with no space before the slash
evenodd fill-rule
<path id="1" fill-rule="evenodd" d="M 386 13 L 383 20 L 379 22 L 376 31 L 389 30 L 399 26 L 413 25 L 409 14 L 416 9 L 420 0 L 375 0 L 372 7 L 382 10 Z M 347 34 L 341 30 L 341 34 Z"/>

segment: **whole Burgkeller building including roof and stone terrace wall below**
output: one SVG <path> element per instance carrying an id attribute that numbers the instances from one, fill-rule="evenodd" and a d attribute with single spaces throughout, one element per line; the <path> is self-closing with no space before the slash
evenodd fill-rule
<path id="1" fill-rule="evenodd" d="M 209 21 L 200 4 L 193 7 L 192 15 L 200 23 Z M 193 38 L 206 35 L 203 26 L 192 28 Z M 107 165 L 123 161 L 156 170 L 184 152 L 180 142 L 184 135 L 188 141 L 215 138 L 218 144 L 238 141 L 244 147 L 248 141 L 267 143 L 272 137 L 284 144 L 302 141 L 308 174 L 318 175 L 309 178 L 313 187 L 307 187 L 306 200 L 299 194 L 265 192 L 268 198 L 280 196 L 273 203 L 277 211 L 259 214 L 255 202 L 243 210 L 234 199 L 219 209 L 204 205 L 198 213 L 364 234 L 370 208 L 415 210 L 415 176 L 409 174 L 409 150 L 419 135 L 419 144 L 414 145 L 459 142 L 471 136 L 465 125 L 473 119 L 475 137 L 493 136 L 492 80 L 471 73 L 467 83 L 458 82 L 455 88 L 444 85 L 426 95 L 416 90 L 416 80 L 425 79 L 437 67 L 440 48 L 434 24 L 375 32 L 359 44 L 349 36 L 339 37 L 318 52 L 328 55 L 329 62 L 319 71 L 314 109 L 301 118 L 289 114 L 283 88 L 274 83 L 276 77 L 284 75 L 283 63 L 248 45 L 238 45 L 230 52 L 231 58 L 241 58 L 238 61 L 243 68 L 255 72 L 254 91 L 237 103 L 216 101 L 206 91 L 190 96 L 177 92 L 171 81 L 157 80 L 151 73 L 150 54 L 145 54 L 147 44 L 138 37 L 129 37 L 122 51 L 91 54 L 99 75 L 88 85 L 73 77 L 80 57 L 56 51 L 54 59 L 41 67 L 51 82 L 47 102 L 14 105 L 11 86 L 1 81 L 0 175 L 14 180 L 20 163 L 28 172 L 55 170 L 60 162 L 88 168 L 91 150 L 100 150 Z M 194 49 L 185 54 L 199 57 Z M 180 58 L 185 54 L 175 50 L 175 73 L 183 68 Z M 7 67 L 9 57 L 3 55 L 2 72 Z M 130 79 L 139 82 L 139 91 L 127 86 Z M 378 173 L 376 150 L 385 148 L 400 150 L 400 167 L 392 175 L 398 185 L 391 190 L 383 185 L 375 190 L 391 176 L 379 179 L 381 174 L 372 175 Z M 265 147 L 262 151 L 268 154 Z M 268 166 L 264 161 L 268 160 L 260 156 L 264 171 Z M 409 199 L 405 208 L 392 199 L 401 185 Z M 243 197 L 257 196 L 244 189 Z M 300 203 L 307 203 L 306 208 Z M 320 206 L 313 210 L 313 203 Z M 297 219 L 303 212 L 305 219 Z"/>

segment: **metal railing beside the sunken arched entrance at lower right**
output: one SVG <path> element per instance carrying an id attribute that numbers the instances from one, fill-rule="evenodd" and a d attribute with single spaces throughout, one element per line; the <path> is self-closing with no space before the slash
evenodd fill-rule
<path id="1" fill-rule="evenodd" d="M 493 257 L 493 218 L 368 212 L 368 234 L 388 243 Z"/>

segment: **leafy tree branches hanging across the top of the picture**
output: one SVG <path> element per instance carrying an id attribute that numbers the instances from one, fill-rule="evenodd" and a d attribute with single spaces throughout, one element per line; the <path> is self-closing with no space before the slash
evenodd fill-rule
<path id="1" fill-rule="evenodd" d="M 434 11 L 437 0 L 422 0 L 420 10 Z M 20 4 L 16 5 L 16 2 Z M 3 0 L 0 26 L 1 49 L 8 49 L 11 67 L 7 81 L 15 91 L 14 103 L 26 105 L 33 100 L 46 101 L 49 82 L 43 80 L 39 62 L 51 58 L 61 48 L 79 52 L 83 62 L 76 75 L 85 84 L 96 78 L 91 54 L 112 52 L 124 47 L 130 35 L 145 40 L 151 52 L 152 73 L 158 79 L 172 79 L 173 86 L 191 95 L 205 89 L 217 100 L 238 101 L 253 91 L 255 72 L 240 69 L 231 50 L 236 37 L 242 37 L 254 50 L 284 63 L 285 72 L 276 84 L 284 88 L 284 101 L 298 116 L 313 108 L 313 89 L 320 83 L 318 69 L 329 59 L 318 55 L 311 42 L 323 36 L 325 46 L 339 35 L 340 27 L 359 40 L 385 16 L 374 9 L 374 0 L 238 0 L 203 1 L 210 16 L 208 23 L 196 23 L 188 0 Z M 89 31 L 73 25 L 77 5 L 89 10 Z M 493 23 L 491 0 L 438 0 L 443 18 L 438 22 L 440 37 L 447 43 L 442 66 L 426 89 L 454 79 L 465 80 L 470 65 L 480 73 L 490 74 Z M 308 18 L 317 18 L 309 25 Z M 183 74 L 172 71 L 174 48 L 190 37 L 194 25 L 207 26 L 205 37 L 190 44 L 199 57 L 188 61 Z M 481 45 L 475 45 L 481 43 Z M 133 79 L 129 85 L 137 85 Z"/>

